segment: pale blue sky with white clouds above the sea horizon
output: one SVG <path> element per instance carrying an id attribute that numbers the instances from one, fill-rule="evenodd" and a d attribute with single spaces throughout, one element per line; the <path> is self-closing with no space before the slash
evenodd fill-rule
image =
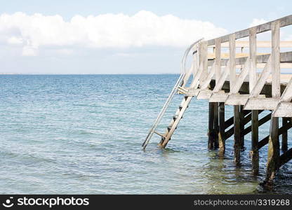
<path id="1" fill-rule="evenodd" d="M 0 73 L 65 74 L 179 73 L 185 48 L 197 39 L 291 15 L 292 6 L 291 0 L 0 3 Z"/>

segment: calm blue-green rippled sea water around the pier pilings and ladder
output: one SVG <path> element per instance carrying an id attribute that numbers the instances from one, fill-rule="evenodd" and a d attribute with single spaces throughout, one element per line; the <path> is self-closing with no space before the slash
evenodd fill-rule
<path id="1" fill-rule="evenodd" d="M 232 138 L 224 159 L 208 151 L 204 100 L 192 100 L 166 150 L 157 148 L 159 138 L 153 137 L 142 151 L 177 78 L 0 75 L 0 193 L 292 193 L 292 162 L 281 168 L 272 192 L 259 186 L 267 146 L 260 151 L 260 176 L 251 176 L 250 135 L 240 168 L 232 162 Z M 181 97 L 175 96 L 160 132 Z M 232 106 L 226 112 L 227 119 Z M 260 138 L 267 134 L 268 123 L 260 127 Z"/>

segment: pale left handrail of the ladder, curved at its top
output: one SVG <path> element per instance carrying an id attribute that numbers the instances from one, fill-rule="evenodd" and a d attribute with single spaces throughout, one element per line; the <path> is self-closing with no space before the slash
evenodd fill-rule
<path id="1" fill-rule="evenodd" d="M 157 116 L 156 120 L 154 121 L 154 124 L 152 125 L 152 128 L 150 129 L 150 131 L 147 134 L 147 137 L 145 139 L 145 141 L 142 144 L 142 148 L 145 150 L 147 144 L 149 143 L 152 135 L 154 134 L 154 131 L 156 130 L 157 126 L 159 125 L 161 118 L 164 116 L 164 113 L 166 112 L 166 109 L 168 108 L 168 105 L 170 104 L 171 100 L 173 99 L 173 96 L 175 95 L 176 90 L 178 89 L 178 87 L 181 85 L 181 83 L 183 82 L 183 78 L 185 77 L 185 66 L 186 66 L 186 57 L 187 55 L 189 55 L 190 50 L 192 50 L 192 48 L 194 47 L 194 45 L 196 45 L 197 43 L 199 43 L 203 38 L 200 38 L 199 40 L 195 41 L 194 43 L 192 43 L 192 45 L 190 45 L 189 48 L 187 48 L 187 50 L 185 50 L 185 54 L 183 55 L 183 59 L 180 65 L 181 68 L 181 73 L 180 73 L 180 77 L 178 78 L 178 80 L 176 81 L 173 90 L 171 90 L 171 94 L 168 95 L 168 98 L 164 104 L 164 106 L 162 107 L 159 116 Z"/>

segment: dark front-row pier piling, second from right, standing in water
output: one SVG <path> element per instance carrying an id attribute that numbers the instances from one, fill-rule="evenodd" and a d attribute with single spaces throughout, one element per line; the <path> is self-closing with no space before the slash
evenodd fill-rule
<path id="1" fill-rule="evenodd" d="M 253 175 L 258 175 L 258 110 L 251 111 L 251 163 Z"/>

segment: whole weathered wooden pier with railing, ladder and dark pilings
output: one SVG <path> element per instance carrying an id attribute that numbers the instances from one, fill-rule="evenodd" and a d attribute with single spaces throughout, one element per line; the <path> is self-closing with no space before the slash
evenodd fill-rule
<path id="1" fill-rule="evenodd" d="M 192 66 L 185 69 L 184 57 L 182 75 L 174 88 L 185 97 L 166 132 L 160 134 L 156 128 L 172 94 L 168 97 L 143 148 L 153 133 L 161 136 L 159 146 L 165 148 L 192 98 L 206 99 L 209 104 L 208 148 L 218 149 L 219 155 L 224 155 L 225 141 L 233 137 L 234 163 L 240 165 L 244 137 L 251 133 L 252 172 L 258 175 L 260 148 L 268 144 L 265 184 L 272 183 L 279 167 L 292 158 L 292 148 L 288 148 L 287 142 L 287 131 L 292 127 L 292 74 L 281 73 L 282 69 L 292 70 L 292 51 L 289 51 L 292 41 L 280 41 L 280 29 L 289 25 L 292 25 L 292 15 L 194 43 L 185 54 L 186 57 L 192 52 Z M 257 34 L 269 31 L 270 41 L 257 40 Z M 233 106 L 232 118 L 225 119 L 225 105 Z M 269 113 L 259 118 L 263 111 Z M 270 135 L 258 139 L 259 127 L 268 121 Z M 251 125 L 247 127 L 249 122 Z"/>

